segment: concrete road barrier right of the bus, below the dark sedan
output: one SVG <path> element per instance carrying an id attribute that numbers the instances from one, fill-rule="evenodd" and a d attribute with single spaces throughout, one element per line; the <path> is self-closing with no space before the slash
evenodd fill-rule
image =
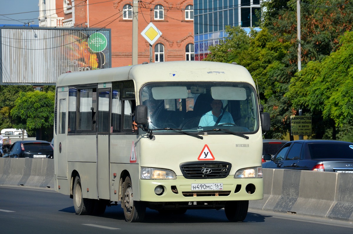
<path id="1" fill-rule="evenodd" d="M 249 207 L 353 220 L 353 174 L 263 169 L 264 199 Z"/>

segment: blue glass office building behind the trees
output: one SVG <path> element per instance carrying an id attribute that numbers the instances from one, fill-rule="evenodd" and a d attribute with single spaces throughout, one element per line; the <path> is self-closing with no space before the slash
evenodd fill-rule
<path id="1" fill-rule="evenodd" d="M 194 0 L 195 60 L 203 60 L 208 47 L 227 36 L 226 25 L 240 25 L 246 31 L 258 27 L 260 3 L 261 0 Z"/>

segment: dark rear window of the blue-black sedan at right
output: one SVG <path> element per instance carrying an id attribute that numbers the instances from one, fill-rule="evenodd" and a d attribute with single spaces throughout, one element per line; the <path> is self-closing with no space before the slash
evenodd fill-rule
<path id="1" fill-rule="evenodd" d="M 349 158 L 353 159 L 352 144 L 310 143 L 308 144 L 312 159 L 318 158 Z"/>

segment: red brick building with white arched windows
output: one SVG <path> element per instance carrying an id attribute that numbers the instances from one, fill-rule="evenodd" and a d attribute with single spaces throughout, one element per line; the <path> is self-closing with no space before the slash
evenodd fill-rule
<path id="1" fill-rule="evenodd" d="M 132 1 L 54 1 L 40 0 L 40 10 L 55 4 L 50 21 L 56 17 L 56 26 L 111 29 L 112 67 L 132 64 Z M 40 26 L 54 26 L 43 25 L 45 19 L 40 15 Z M 162 32 L 152 45 L 152 62 L 194 60 L 192 0 L 138 1 L 138 64 L 150 59 L 149 43 L 140 34 L 150 22 Z"/>

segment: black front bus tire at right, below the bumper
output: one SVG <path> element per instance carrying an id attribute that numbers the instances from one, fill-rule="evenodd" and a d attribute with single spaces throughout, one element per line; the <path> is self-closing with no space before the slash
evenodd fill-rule
<path id="1" fill-rule="evenodd" d="M 227 201 L 224 210 L 229 221 L 242 222 L 247 215 L 248 208 L 249 201 Z"/>

